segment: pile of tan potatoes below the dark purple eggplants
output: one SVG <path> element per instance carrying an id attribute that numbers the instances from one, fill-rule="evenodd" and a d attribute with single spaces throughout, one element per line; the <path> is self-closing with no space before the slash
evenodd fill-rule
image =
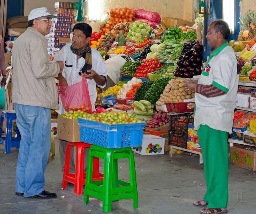
<path id="1" fill-rule="evenodd" d="M 184 78 L 172 79 L 168 82 L 156 104 L 162 106 L 165 103 L 183 102 L 183 100 L 194 98 L 194 96 L 195 91 L 185 88 Z"/>

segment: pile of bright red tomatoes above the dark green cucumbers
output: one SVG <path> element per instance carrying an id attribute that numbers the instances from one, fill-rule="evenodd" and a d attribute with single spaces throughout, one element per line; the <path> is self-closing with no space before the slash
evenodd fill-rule
<path id="1" fill-rule="evenodd" d="M 164 66 L 158 62 L 158 58 L 143 59 L 141 65 L 136 70 L 134 77 L 145 77 L 148 78 L 148 73 L 154 72 L 156 69 Z"/>

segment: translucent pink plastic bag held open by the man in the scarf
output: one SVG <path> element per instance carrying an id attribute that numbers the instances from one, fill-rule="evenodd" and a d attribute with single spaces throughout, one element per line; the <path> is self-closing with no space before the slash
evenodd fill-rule
<path id="1" fill-rule="evenodd" d="M 62 104 L 67 112 L 78 109 L 84 112 L 92 111 L 88 84 L 85 77 L 83 77 L 81 82 L 70 86 L 59 85 L 59 89 Z"/>

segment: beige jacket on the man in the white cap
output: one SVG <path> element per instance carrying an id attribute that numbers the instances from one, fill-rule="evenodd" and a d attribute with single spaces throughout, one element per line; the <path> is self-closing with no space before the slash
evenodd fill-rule
<path id="1" fill-rule="evenodd" d="M 32 27 L 15 41 L 12 49 L 13 103 L 58 108 L 54 77 L 60 73 L 60 66 L 50 62 L 47 46 L 46 37 Z"/>

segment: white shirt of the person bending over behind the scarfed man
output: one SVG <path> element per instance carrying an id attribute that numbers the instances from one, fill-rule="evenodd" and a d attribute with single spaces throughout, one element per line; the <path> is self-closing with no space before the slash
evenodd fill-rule
<path id="1" fill-rule="evenodd" d="M 120 54 L 120 55 L 110 54 L 110 57 L 111 58 L 105 61 L 108 77 L 110 77 L 110 79 L 115 84 L 117 84 L 118 81 L 121 79 L 120 69 L 122 65 L 124 65 L 124 63 L 126 62 L 134 62 L 134 60 L 125 54 Z"/>

